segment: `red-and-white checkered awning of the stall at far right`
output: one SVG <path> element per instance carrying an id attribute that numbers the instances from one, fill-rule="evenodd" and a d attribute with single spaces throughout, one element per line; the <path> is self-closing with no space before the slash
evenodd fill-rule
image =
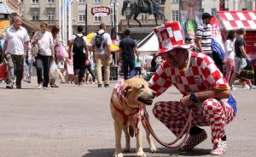
<path id="1" fill-rule="evenodd" d="M 256 30 L 256 11 L 218 11 L 218 18 L 227 30 Z"/>

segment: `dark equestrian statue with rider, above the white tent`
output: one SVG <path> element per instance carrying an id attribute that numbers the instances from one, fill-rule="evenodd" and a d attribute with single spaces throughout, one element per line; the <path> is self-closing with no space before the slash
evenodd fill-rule
<path id="1" fill-rule="evenodd" d="M 130 3 L 131 13 L 127 16 L 127 25 L 130 26 L 129 20 L 133 16 L 133 20 L 136 20 L 139 26 L 141 27 L 142 24 L 139 20 L 137 20 L 137 16 L 140 13 L 148 13 L 154 14 L 155 24 L 157 24 L 157 16 L 161 15 L 164 17 L 166 22 L 165 14 L 160 13 L 160 0 L 124 0 L 123 8 L 122 8 L 122 15 L 125 14 L 125 9 L 127 8 L 128 4 Z"/>

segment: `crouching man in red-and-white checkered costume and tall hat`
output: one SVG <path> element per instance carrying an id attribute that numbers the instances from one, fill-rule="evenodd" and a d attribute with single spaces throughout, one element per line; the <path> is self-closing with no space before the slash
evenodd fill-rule
<path id="1" fill-rule="evenodd" d="M 204 53 L 190 52 L 183 43 L 177 21 L 154 28 L 160 42 L 164 61 L 148 81 L 158 96 L 169 87 L 176 87 L 183 98 L 180 101 L 157 102 L 154 116 L 176 136 L 192 113 L 189 139 L 180 149 L 190 150 L 207 138 L 207 132 L 198 126 L 211 126 L 213 149 L 210 154 L 224 154 L 227 147 L 224 126 L 236 115 L 236 101 L 230 94 L 229 84 L 213 60 Z"/>

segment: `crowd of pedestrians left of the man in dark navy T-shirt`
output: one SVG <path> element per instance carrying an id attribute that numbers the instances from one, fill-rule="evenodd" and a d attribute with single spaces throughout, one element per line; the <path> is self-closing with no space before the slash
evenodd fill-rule
<path id="1" fill-rule="evenodd" d="M 99 25 L 90 42 L 83 34 L 83 26 L 77 27 L 77 33 L 68 40 L 68 47 L 63 45 L 59 25 L 49 30 L 49 25 L 41 22 L 40 30 L 29 36 L 21 26 L 19 16 L 12 18 L 12 25 L 3 37 L 1 63 L 6 62 L 8 70 L 6 88 L 21 88 L 21 80 L 31 83 L 33 65 L 37 72 L 38 89 L 59 87 L 57 84 L 74 83 L 82 86 L 83 82 L 97 87 L 109 87 L 110 59 L 112 43 L 106 32 L 106 25 Z M 91 52 L 89 51 L 91 45 Z M 102 67 L 104 78 L 102 79 Z M 96 73 L 93 70 L 96 70 Z M 56 80 L 60 80 L 59 83 Z"/>

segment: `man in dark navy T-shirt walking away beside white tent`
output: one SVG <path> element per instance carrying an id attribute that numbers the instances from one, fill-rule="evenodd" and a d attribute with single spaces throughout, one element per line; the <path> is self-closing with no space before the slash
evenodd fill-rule
<path id="1" fill-rule="evenodd" d="M 119 43 L 119 56 L 122 59 L 125 80 L 135 75 L 135 54 L 138 57 L 137 44 L 131 39 L 131 31 L 125 30 L 124 38 Z"/>

